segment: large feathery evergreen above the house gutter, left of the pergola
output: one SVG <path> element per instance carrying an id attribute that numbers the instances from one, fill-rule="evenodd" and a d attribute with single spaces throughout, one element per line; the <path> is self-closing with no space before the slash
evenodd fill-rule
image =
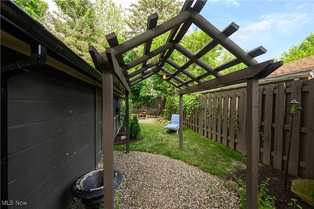
<path id="1" fill-rule="evenodd" d="M 93 64 L 88 46 L 103 51 L 104 38 L 97 27 L 95 6 L 90 0 L 53 0 L 58 12 L 50 15 L 52 31 L 70 49 Z"/>

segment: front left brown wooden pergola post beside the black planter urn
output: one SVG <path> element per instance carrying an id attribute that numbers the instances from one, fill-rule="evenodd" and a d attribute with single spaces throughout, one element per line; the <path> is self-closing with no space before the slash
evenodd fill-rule
<path id="1" fill-rule="evenodd" d="M 114 208 L 113 193 L 113 75 L 103 68 L 104 209 Z"/>

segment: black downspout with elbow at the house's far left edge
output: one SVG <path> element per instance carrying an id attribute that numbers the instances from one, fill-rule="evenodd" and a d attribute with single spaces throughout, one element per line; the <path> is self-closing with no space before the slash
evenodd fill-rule
<path id="1" fill-rule="evenodd" d="M 8 86 L 9 78 L 45 65 L 47 50 L 38 45 L 38 52 L 32 52 L 30 57 L 5 66 L 1 66 L 1 208 L 8 208 Z M 4 203 L 4 204 L 2 204 Z"/>

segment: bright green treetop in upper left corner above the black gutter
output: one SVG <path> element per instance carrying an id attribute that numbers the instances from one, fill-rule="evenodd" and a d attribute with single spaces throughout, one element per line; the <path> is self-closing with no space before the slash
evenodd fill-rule
<path id="1" fill-rule="evenodd" d="M 43 0 L 14 0 L 14 2 L 37 21 L 42 21 L 49 8 L 48 3 Z"/>

